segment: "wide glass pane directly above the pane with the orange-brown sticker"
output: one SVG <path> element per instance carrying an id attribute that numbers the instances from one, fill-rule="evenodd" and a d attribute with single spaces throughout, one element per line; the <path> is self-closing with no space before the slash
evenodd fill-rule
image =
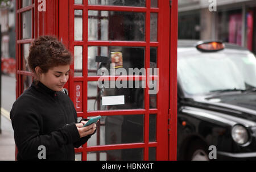
<path id="1" fill-rule="evenodd" d="M 145 40 L 145 13 L 88 11 L 88 40 Z"/>

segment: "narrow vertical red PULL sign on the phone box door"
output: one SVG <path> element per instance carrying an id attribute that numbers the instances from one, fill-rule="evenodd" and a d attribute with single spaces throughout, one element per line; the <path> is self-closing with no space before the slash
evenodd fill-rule
<path id="1" fill-rule="evenodd" d="M 82 82 L 75 82 L 75 108 L 82 112 Z"/>

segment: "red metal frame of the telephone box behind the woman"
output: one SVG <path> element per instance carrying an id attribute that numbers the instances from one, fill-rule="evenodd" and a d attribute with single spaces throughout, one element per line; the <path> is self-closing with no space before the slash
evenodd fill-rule
<path id="1" fill-rule="evenodd" d="M 100 6 L 88 5 L 88 0 L 83 0 L 83 5 L 75 5 L 74 0 L 46 1 L 46 12 L 39 12 L 38 1 L 32 0 L 32 5 L 20 8 L 21 0 L 16 1 L 16 98 L 23 92 L 22 76 L 31 76 L 30 72 L 22 71 L 22 44 L 31 43 L 40 35 L 55 35 L 63 41 L 69 51 L 74 52 L 75 45 L 82 46 L 83 57 L 87 57 L 88 46 L 123 46 L 144 47 L 145 68 L 150 68 L 150 47 L 158 48 L 157 65 L 159 76 L 124 76 L 127 80 L 159 81 L 159 93 L 157 94 L 157 106 L 150 108 L 149 88 L 144 89 L 144 109 L 136 110 L 110 110 L 87 112 L 87 89 L 88 81 L 97 81 L 99 77 L 88 77 L 87 58 L 83 58 L 82 77 L 69 77 L 65 87 L 69 90 L 69 97 L 75 102 L 75 84 L 82 83 L 82 112 L 77 115 L 82 118 L 88 116 L 111 116 L 111 115 L 144 115 L 144 142 L 133 144 L 117 144 L 102 146 L 87 146 L 75 149 L 82 153 L 82 160 L 86 160 L 87 152 L 99 150 L 143 148 L 144 158 L 148 160 L 148 148 L 156 148 L 156 160 L 176 160 L 176 120 L 177 120 L 177 82 L 176 82 L 176 49 L 177 49 L 177 0 L 159 0 L 158 8 L 151 8 L 151 0 L 146 0 L 146 7 L 123 7 L 123 6 Z M 31 39 L 22 39 L 22 18 L 24 11 L 32 10 L 32 35 Z M 74 41 L 74 10 L 83 10 L 83 41 Z M 130 11 L 144 12 L 146 15 L 146 40 L 145 41 L 87 41 L 88 40 L 88 10 L 104 11 Z M 68 11 L 68 12 L 67 12 Z M 158 41 L 150 41 L 150 14 L 158 13 Z M 170 55 L 171 54 L 171 55 Z M 71 65 L 74 71 L 74 65 Z M 116 80 L 118 77 L 109 77 Z M 156 142 L 148 141 L 149 115 L 156 115 Z M 170 116 L 168 116 L 170 114 Z M 168 122 L 168 119 L 169 122 Z M 168 132 L 169 129 L 169 132 Z"/>

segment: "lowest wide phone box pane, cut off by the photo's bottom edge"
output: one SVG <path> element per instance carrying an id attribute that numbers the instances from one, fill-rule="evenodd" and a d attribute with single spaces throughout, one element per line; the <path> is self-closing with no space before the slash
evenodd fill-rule
<path id="1" fill-rule="evenodd" d="M 143 148 L 88 152 L 89 161 L 142 161 Z"/>

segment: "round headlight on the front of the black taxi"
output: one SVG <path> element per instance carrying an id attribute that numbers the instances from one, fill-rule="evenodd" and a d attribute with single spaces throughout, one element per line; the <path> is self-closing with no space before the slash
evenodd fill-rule
<path id="1" fill-rule="evenodd" d="M 245 127 L 242 125 L 235 125 L 232 128 L 232 138 L 238 144 L 242 145 L 248 141 L 249 135 Z"/>

